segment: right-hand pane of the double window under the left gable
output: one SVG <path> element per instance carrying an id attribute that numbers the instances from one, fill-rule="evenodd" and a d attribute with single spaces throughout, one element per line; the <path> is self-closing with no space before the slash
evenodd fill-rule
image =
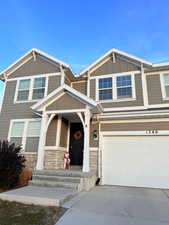
<path id="1" fill-rule="evenodd" d="M 33 96 L 32 99 L 40 99 L 45 94 L 45 77 L 38 77 L 34 79 Z"/>

